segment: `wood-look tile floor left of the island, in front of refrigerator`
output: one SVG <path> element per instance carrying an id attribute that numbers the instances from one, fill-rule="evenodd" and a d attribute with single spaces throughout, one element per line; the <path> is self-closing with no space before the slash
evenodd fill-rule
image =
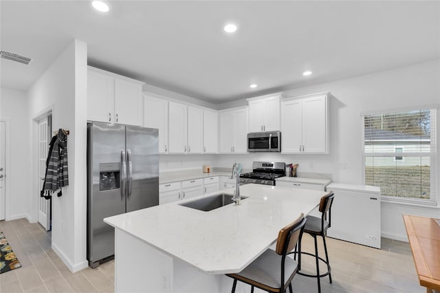
<path id="1" fill-rule="evenodd" d="M 72 273 L 51 248 L 50 234 L 27 219 L 0 221 L 22 267 L 0 274 L 0 292 L 114 292 L 114 261 Z"/>

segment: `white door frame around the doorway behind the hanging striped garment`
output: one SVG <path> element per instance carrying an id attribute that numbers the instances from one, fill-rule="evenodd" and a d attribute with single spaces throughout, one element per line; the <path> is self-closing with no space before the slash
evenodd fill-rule
<path id="1" fill-rule="evenodd" d="M 40 192 L 40 185 L 39 185 L 39 148 L 38 148 L 38 139 L 39 139 L 39 121 L 44 118 L 45 116 L 52 113 L 52 129 L 54 129 L 54 117 L 55 117 L 55 111 L 54 111 L 54 105 L 51 105 L 50 107 L 46 107 L 45 109 L 39 111 L 34 116 L 32 116 L 32 189 L 30 190 L 31 194 L 31 200 L 30 200 L 30 217 L 32 218 L 32 223 L 38 223 L 39 221 L 39 197 L 36 197 L 35 195 L 39 195 Z M 50 210 L 50 213 L 52 215 L 52 207 Z"/>

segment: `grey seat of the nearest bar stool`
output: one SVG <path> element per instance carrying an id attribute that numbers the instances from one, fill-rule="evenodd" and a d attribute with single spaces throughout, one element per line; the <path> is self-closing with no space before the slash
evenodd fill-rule
<path id="1" fill-rule="evenodd" d="M 248 265 L 244 270 L 236 274 L 230 274 L 234 278 L 246 281 L 250 284 L 254 283 L 259 287 L 265 287 L 272 292 L 279 292 L 281 285 L 281 255 L 274 250 L 268 249 L 255 261 Z M 284 279 L 293 279 L 294 274 L 286 272 L 296 272 L 298 264 L 294 259 L 286 257 L 285 259 L 285 276 Z M 255 281 L 259 280 L 259 282 Z M 286 283 L 288 283 L 287 281 Z"/>

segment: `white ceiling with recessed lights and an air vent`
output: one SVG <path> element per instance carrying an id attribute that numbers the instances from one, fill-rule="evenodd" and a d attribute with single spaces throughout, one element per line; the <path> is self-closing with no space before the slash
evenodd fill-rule
<path id="1" fill-rule="evenodd" d="M 440 1 L 108 3 L 2 0 L 1 49 L 34 61 L 1 59 L 1 87 L 27 90 L 73 39 L 89 65 L 214 104 L 440 58 Z"/>

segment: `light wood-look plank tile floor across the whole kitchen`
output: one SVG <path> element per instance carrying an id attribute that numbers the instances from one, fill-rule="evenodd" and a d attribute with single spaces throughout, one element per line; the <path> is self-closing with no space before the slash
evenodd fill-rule
<path id="1" fill-rule="evenodd" d="M 72 273 L 51 248 L 50 235 L 26 219 L 1 221 L 3 231 L 22 268 L 0 274 L 0 292 L 113 292 L 114 261 L 97 269 Z M 318 239 L 324 256 L 322 240 Z M 333 283 L 322 278 L 322 292 L 426 292 L 417 280 L 408 243 L 382 238 L 382 249 L 327 238 Z M 303 251 L 313 251 L 309 235 Z M 303 270 L 314 270 L 314 259 L 303 257 Z M 325 268 L 322 266 L 322 271 Z M 317 292 L 316 279 L 296 275 L 294 292 Z"/>

